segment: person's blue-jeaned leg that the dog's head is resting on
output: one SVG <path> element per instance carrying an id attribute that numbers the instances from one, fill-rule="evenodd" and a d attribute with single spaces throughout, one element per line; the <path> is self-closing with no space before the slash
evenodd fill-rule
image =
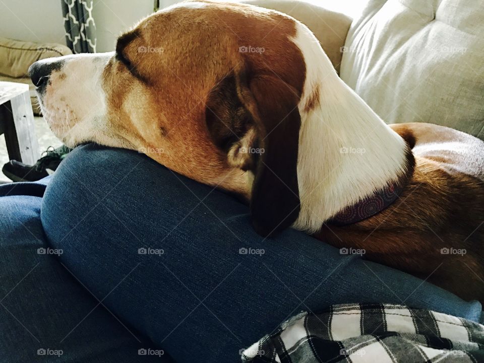
<path id="1" fill-rule="evenodd" d="M 262 238 L 245 205 L 133 151 L 78 147 L 48 186 L 41 217 L 68 268 L 177 363 L 239 361 L 240 348 L 289 316 L 332 304 L 480 314 L 478 302 L 305 233 Z"/>

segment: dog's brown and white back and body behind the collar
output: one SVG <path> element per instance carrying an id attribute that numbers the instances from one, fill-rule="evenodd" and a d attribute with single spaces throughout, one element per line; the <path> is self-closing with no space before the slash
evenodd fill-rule
<path id="1" fill-rule="evenodd" d="M 381 213 L 350 226 L 323 226 L 317 237 L 365 249 L 369 260 L 484 301 L 484 142 L 431 124 L 391 127 L 415 157 L 403 193 Z"/>

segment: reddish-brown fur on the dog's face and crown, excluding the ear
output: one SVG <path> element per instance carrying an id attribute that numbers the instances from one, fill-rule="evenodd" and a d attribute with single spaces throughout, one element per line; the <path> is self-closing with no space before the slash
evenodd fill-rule
<path id="1" fill-rule="evenodd" d="M 204 3 L 157 12 L 120 37 L 121 56 L 103 74 L 110 122 L 135 148 L 163 149 L 148 155 L 168 168 L 248 196 L 246 173 L 227 162 L 209 135 L 209 94 L 237 70 L 250 80 L 273 76 L 300 97 L 304 58 L 291 41 L 293 19 L 242 4 Z"/>

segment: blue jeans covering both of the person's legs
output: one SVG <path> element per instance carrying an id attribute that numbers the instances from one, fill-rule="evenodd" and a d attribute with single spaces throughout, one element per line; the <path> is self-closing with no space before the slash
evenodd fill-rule
<path id="1" fill-rule="evenodd" d="M 305 233 L 263 238 L 247 206 L 133 151 L 83 145 L 52 178 L 0 195 L 1 361 L 51 348 L 65 361 L 235 363 L 291 315 L 345 302 L 480 316 L 476 301 Z"/>

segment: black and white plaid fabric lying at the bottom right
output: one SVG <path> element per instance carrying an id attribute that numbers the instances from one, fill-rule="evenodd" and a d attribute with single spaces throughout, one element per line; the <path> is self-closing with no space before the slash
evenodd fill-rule
<path id="1" fill-rule="evenodd" d="M 484 362 L 484 326 L 401 305 L 302 312 L 241 350 L 245 363 Z"/>

